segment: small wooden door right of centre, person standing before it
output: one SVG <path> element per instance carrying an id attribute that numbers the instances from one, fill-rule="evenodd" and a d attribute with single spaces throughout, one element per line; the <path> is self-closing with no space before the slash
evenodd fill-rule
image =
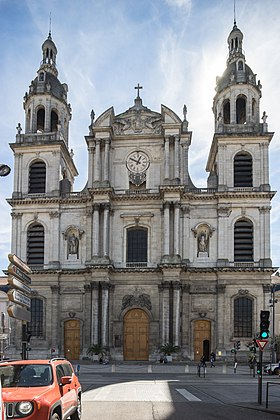
<path id="1" fill-rule="evenodd" d="M 198 320 L 194 322 L 193 345 L 194 360 L 200 360 L 201 356 L 205 356 L 209 360 L 211 342 L 211 323 L 207 320 Z M 205 352 L 207 354 L 205 354 Z"/>

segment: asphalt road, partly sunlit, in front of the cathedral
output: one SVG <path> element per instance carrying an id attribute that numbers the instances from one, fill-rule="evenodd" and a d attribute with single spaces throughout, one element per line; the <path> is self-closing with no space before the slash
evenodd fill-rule
<path id="1" fill-rule="evenodd" d="M 222 366 L 197 376 L 196 366 L 82 366 L 82 420 L 253 420 L 280 416 L 280 379 L 258 378 L 247 367 Z M 271 386 L 265 408 L 266 382 Z"/>

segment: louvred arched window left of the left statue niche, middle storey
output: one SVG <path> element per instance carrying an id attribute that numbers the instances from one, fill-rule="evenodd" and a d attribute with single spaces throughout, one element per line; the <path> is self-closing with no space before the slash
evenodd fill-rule
<path id="1" fill-rule="evenodd" d="M 33 223 L 27 231 L 27 264 L 43 265 L 45 231 L 40 223 Z"/>

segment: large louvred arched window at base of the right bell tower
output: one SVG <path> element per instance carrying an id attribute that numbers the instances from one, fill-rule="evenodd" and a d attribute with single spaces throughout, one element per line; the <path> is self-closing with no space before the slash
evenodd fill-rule
<path id="1" fill-rule="evenodd" d="M 253 160 L 249 153 L 240 152 L 234 156 L 234 186 L 253 186 Z"/>

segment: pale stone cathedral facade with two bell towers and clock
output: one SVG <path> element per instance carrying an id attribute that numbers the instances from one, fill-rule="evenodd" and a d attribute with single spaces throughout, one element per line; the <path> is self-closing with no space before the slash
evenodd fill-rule
<path id="1" fill-rule="evenodd" d="M 192 132 L 161 105 L 91 113 L 88 180 L 69 148 L 68 87 L 58 79 L 51 34 L 24 96 L 14 143 L 12 253 L 32 268 L 31 354 L 82 359 L 98 344 L 115 360 L 155 360 L 241 350 L 259 332 L 270 297 L 269 132 L 261 84 L 234 23 L 217 78 L 215 132 L 197 188 L 188 170 Z M 21 351 L 15 321 L 13 355 Z"/>

